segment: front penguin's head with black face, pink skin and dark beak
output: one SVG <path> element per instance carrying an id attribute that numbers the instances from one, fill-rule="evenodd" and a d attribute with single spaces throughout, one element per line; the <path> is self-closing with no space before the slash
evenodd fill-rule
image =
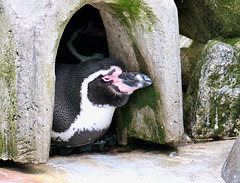
<path id="1" fill-rule="evenodd" d="M 135 90 L 150 86 L 152 80 L 145 74 L 128 72 L 118 60 L 111 61 L 115 62 L 108 64 L 108 68 L 103 70 L 105 73 L 100 72 L 98 77 L 89 82 L 88 98 L 96 105 L 121 107 Z"/>

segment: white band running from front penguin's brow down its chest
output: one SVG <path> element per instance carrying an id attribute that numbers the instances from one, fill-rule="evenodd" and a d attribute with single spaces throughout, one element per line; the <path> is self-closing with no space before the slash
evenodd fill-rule
<path id="1" fill-rule="evenodd" d="M 106 75 L 113 69 L 118 68 L 117 66 L 112 66 L 108 70 L 100 70 L 96 73 L 91 74 L 85 78 L 81 85 L 80 94 L 82 94 L 81 104 L 80 104 L 80 114 L 76 116 L 74 122 L 71 124 L 70 128 L 64 132 L 58 133 L 52 131 L 52 138 L 61 141 L 69 141 L 69 139 L 74 135 L 75 132 L 79 131 L 100 131 L 109 127 L 112 121 L 113 113 L 115 107 L 109 105 L 93 105 L 87 96 L 88 93 L 88 83 L 96 79 L 99 75 Z"/>

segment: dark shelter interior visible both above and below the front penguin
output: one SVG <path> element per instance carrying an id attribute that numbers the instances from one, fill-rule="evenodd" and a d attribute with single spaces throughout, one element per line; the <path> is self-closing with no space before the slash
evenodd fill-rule
<path id="1" fill-rule="evenodd" d="M 91 5 L 84 5 L 72 16 L 64 29 L 56 56 L 56 66 L 60 63 L 81 64 L 90 59 L 106 57 L 109 57 L 109 50 L 100 12 Z M 52 145 L 50 156 L 100 152 L 104 150 L 104 146 L 116 145 L 116 127 L 112 123 L 106 134 L 93 144 L 76 148 Z"/>

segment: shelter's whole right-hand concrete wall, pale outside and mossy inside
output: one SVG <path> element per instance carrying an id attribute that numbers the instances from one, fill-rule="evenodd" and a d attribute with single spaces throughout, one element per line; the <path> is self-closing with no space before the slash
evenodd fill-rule
<path id="1" fill-rule="evenodd" d="M 153 87 L 137 91 L 128 104 L 117 111 L 119 143 L 126 145 L 128 138 L 175 143 L 183 134 L 175 4 L 173 1 L 143 1 L 133 5 L 137 9 L 132 10 L 128 8 L 129 1 L 121 2 L 110 4 L 111 9 L 102 12 L 110 55 L 125 61 L 129 70 L 150 75 Z M 116 16 L 110 16 L 112 11 Z M 137 14 L 131 16 L 132 11 Z"/>

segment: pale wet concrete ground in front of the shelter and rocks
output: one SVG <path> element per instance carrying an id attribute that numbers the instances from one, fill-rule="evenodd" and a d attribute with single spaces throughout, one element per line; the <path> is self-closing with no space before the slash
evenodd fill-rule
<path id="1" fill-rule="evenodd" d="M 221 168 L 235 140 L 130 152 L 52 157 L 42 165 L 0 162 L 0 182 L 224 183 Z"/>

